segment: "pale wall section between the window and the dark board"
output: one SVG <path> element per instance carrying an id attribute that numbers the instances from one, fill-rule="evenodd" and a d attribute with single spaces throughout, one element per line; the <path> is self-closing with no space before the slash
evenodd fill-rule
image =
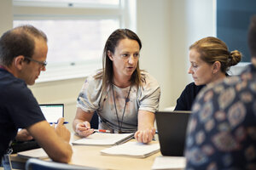
<path id="1" fill-rule="evenodd" d="M 141 68 L 160 83 L 160 110 L 176 105 L 191 82 L 189 45 L 213 36 L 214 0 L 138 0 L 137 33 L 143 41 Z"/>

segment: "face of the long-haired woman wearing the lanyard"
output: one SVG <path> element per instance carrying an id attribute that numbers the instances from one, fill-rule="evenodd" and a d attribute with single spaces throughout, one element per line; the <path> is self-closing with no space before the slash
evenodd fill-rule
<path id="1" fill-rule="evenodd" d="M 114 77 L 130 78 L 137 68 L 139 56 L 140 46 L 136 40 L 120 40 L 114 54 L 108 51 L 108 57 L 113 61 Z"/>

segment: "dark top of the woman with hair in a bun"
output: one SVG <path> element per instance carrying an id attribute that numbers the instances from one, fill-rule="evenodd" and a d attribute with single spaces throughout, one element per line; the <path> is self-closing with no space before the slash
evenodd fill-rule
<path id="1" fill-rule="evenodd" d="M 183 93 L 177 99 L 177 105 L 174 111 L 191 111 L 195 97 L 206 85 L 196 86 L 195 82 L 189 83 L 183 90 Z"/>

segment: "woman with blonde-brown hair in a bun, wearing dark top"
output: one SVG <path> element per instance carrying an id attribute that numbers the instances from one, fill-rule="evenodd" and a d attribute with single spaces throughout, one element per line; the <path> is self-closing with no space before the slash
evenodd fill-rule
<path id="1" fill-rule="evenodd" d="M 195 82 L 189 83 L 177 99 L 175 111 L 191 111 L 195 97 L 210 82 L 224 79 L 230 66 L 241 60 L 237 50 L 229 51 L 226 44 L 217 37 L 204 37 L 189 47 L 188 73 Z"/>

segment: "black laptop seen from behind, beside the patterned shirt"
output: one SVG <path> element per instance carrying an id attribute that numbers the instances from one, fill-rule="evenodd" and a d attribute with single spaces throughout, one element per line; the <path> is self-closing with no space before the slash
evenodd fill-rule
<path id="1" fill-rule="evenodd" d="M 156 126 L 163 156 L 183 156 L 191 111 L 157 111 Z"/>

